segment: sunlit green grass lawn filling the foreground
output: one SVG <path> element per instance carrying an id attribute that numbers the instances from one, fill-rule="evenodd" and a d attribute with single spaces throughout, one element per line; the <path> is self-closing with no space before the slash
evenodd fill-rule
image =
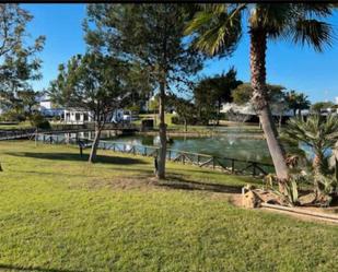
<path id="1" fill-rule="evenodd" d="M 0 142 L 0 271 L 338 270 L 337 226 L 229 202 L 257 180 L 171 163 L 160 186 L 150 158 L 78 152 Z"/>

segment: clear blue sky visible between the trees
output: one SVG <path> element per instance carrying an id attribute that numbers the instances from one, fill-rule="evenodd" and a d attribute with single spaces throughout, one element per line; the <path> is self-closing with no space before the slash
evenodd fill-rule
<path id="1" fill-rule="evenodd" d="M 40 58 L 43 80 L 34 83 L 36 90 L 48 87 L 57 75 L 58 64 L 75 54 L 85 51 L 82 21 L 85 4 L 23 4 L 33 15 L 28 32 L 33 37 L 46 36 Z M 335 100 L 338 103 L 338 12 L 330 17 L 336 39 L 331 48 L 323 54 L 312 48 L 294 46 L 288 42 L 271 42 L 267 51 L 267 80 L 290 90 L 304 92 L 312 102 Z M 237 70 L 242 81 L 249 81 L 248 36 L 244 35 L 235 54 L 228 59 L 212 59 L 206 62 L 201 74 L 211 75 L 228 71 L 231 66 Z"/>

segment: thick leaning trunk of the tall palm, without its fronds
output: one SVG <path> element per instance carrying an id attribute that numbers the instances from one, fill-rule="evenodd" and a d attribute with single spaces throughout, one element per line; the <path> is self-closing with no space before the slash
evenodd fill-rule
<path id="1" fill-rule="evenodd" d="M 289 170 L 284 159 L 284 151 L 278 140 L 278 131 L 272 120 L 272 115 L 268 104 L 266 87 L 266 50 L 267 34 L 263 29 L 250 31 L 250 82 L 254 90 L 252 100 L 258 113 L 265 133 L 270 155 L 278 179 L 280 189 L 289 177 Z"/>

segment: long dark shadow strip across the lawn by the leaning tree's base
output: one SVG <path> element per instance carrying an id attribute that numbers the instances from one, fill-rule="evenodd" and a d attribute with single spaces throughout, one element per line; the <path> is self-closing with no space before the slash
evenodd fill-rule
<path id="1" fill-rule="evenodd" d="M 86 162 L 89 158 L 88 154 L 83 154 L 81 157 L 80 154 L 74 153 L 35 153 L 35 152 L 8 152 L 5 153 L 11 156 L 21 156 L 21 157 L 33 157 L 42 159 L 53 159 L 53 161 L 82 161 Z M 147 164 L 147 162 L 131 158 L 131 157 L 120 157 L 120 156 L 106 156 L 97 155 L 95 163 L 104 164 L 119 164 L 119 165 L 130 165 L 130 164 Z"/>

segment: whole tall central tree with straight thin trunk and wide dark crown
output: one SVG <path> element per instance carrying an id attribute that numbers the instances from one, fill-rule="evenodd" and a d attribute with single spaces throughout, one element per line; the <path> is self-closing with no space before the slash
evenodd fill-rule
<path id="1" fill-rule="evenodd" d="M 173 86 L 187 88 L 201 68 L 200 55 L 183 39 L 186 9 L 180 4 L 91 4 L 88 14 L 88 43 L 140 63 L 156 83 L 161 142 L 156 176 L 165 178 L 166 95 Z"/>

